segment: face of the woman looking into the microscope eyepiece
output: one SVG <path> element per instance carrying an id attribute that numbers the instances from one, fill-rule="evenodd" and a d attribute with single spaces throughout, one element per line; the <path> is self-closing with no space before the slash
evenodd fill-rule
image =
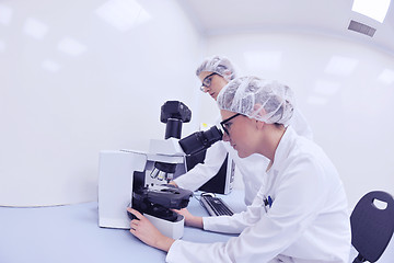
<path id="1" fill-rule="evenodd" d="M 223 140 L 237 151 L 239 157 L 245 158 L 255 153 L 255 119 L 248 118 L 242 114 L 220 111 L 222 116 L 221 125 L 224 128 Z"/>

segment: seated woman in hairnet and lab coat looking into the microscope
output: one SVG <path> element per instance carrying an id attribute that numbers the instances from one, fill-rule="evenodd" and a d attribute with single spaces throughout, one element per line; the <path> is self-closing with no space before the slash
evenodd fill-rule
<path id="1" fill-rule="evenodd" d="M 242 213 L 250 220 L 220 229 L 242 229 L 241 235 L 225 243 L 175 241 L 132 209 L 140 220 L 131 221 L 130 232 L 167 251 L 167 262 L 348 262 L 350 222 L 343 183 L 324 151 L 288 125 L 294 112 L 291 90 L 244 77 L 231 81 L 217 101 L 223 139 L 241 158 L 258 153 L 269 160 L 253 209 Z M 211 218 L 179 213 L 186 225 L 211 230 L 206 227 Z"/>

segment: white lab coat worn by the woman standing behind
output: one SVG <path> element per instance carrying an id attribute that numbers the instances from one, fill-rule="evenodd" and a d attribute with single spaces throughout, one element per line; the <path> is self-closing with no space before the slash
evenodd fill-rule
<path id="1" fill-rule="evenodd" d="M 311 127 L 300 111 L 296 110 L 290 124 L 299 135 L 312 139 Z M 227 153 L 233 159 L 239 173 L 242 175 L 245 187 L 245 204 L 251 205 L 263 184 L 264 176 L 262 175 L 265 174 L 269 160 L 262 155 L 240 158 L 236 150 L 228 141 L 221 140 L 213 144 L 207 149 L 204 164 L 197 164 L 187 173 L 176 178 L 174 182 L 182 188 L 198 190 L 218 173 Z"/>

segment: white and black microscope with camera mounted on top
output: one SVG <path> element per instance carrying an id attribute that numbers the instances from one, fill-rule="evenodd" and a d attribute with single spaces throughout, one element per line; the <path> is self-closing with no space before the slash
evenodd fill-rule
<path id="1" fill-rule="evenodd" d="M 161 122 L 166 124 L 164 140 L 151 139 L 148 152 L 127 149 L 100 152 L 100 227 L 130 228 L 126 208 L 131 205 L 163 235 L 182 237 L 184 218 L 172 209 L 186 207 L 193 192 L 167 182 L 186 172 L 186 155 L 207 149 L 222 137 L 215 126 L 179 139 L 182 125 L 190 117 L 192 112 L 184 103 L 167 101 L 161 107 Z"/>

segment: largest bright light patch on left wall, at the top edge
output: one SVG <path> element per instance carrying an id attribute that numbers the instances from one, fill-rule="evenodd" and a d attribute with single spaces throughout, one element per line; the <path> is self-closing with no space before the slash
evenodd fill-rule
<path id="1" fill-rule="evenodd" d="M 151 19 L 151 15 L 135 0 L 111 0 L 97 8 L 95 13 L 121 32 Z"/>

